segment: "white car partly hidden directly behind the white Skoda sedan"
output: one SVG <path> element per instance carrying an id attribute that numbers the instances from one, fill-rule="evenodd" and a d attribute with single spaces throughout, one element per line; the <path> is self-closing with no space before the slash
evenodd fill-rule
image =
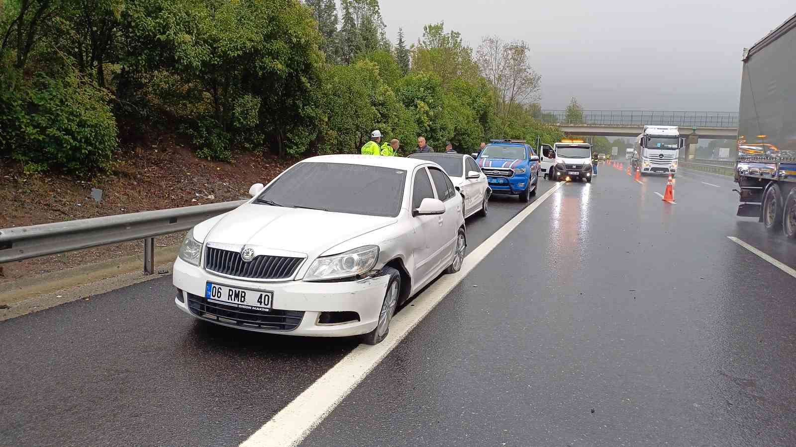
<path id="1" fill-rule="evenodd" d="M 492 189 L 486 182 L 486 174 L 481 172 L 473 157 L 465 154 L 412 154 L 409 158 L 434 161 L 451 178 L 455 188 L 462 194 L 464 200 L 465 218 L 479 213 L 486 216 L 489 212 L 489 201 Z"/>

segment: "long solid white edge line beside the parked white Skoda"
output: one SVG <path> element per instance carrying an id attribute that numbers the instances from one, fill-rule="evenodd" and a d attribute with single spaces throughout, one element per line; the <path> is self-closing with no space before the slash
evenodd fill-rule
<path id="1" fill-rule="evenodd" d="M 322 375 L 293 402 L 275 414 L 270 421 L 259 428 L 252 436 L 241 444 L 244 447 L 275 446 L 287 447 L 297 445 L 307 434 L 320 424 L 335 406 L 349 395 L 354 387 L 384 356 L 404 339 L 412 328 L 415 328 L 435 305 L 453 290 L 453 288 L 473 270 L 490 251 L 497 247 L 506 236 L 539 207 L 545 199 L 560 188 L 560 183 L 553 185 L 538 200 L 523 209 L 512 220 L 505 223 L 486 239 L 462 262 L 462 270 L 455 274 L 446 274 L 433 282 L 431 286 L 412 301 L 413 306 L 404 307 L 390 322 L 390 333 L 387 338 L 376 346 L 360 344 L 352 352 L 342 358 L 326 374 Z"/>

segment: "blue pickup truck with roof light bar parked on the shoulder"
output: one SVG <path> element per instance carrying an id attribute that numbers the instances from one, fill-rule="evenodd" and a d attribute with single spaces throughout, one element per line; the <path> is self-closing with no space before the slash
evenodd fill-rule
<path id="1" fill-rule="evenodd" d="M 473 157 L 486 174 L 492 193 L 520 196 L 524 202 L 536 195 L 539 157 L 525 140 L 492 140 Z"/>

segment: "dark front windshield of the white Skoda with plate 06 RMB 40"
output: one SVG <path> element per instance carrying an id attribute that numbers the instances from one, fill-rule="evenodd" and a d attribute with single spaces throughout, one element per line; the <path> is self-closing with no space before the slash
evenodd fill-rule
<path id="1" fill-rule="evenodd" d="M 403 169 L 299 163 L 268 185 L 256 203 L 395 217 L 404 199 L 405 179 Z"/>

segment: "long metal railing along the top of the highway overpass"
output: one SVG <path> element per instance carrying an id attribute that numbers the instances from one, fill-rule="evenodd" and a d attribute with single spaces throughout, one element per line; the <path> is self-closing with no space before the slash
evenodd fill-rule
<path id="1" fill-rule="evenodd" d="M 567 116 L 567 111 L 543 110 L 537 118 L 548 124 L 592 126 L 738 127 L 737 112 L 583 111 L 582 117 L 572 119 Z"/>

